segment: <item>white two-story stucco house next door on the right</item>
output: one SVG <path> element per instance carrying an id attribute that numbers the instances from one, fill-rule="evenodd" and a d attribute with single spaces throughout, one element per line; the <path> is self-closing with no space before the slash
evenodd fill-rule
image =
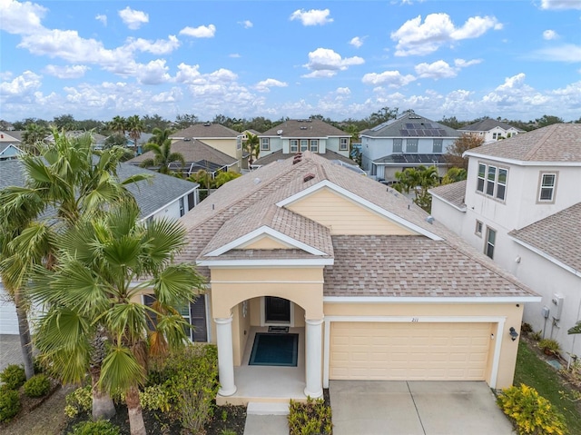
<path id="1" fill-rule="evenodd" d="M 474 148 L 468 180 L 432 189 L 432 215 L 542 295 L 524 320 L 581 355 L 581 124 Z"/>

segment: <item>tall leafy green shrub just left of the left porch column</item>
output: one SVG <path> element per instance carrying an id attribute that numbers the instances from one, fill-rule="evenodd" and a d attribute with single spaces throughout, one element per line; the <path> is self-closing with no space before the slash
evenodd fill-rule
<path id="1" fill-rule="evenodd" d="M 193 344 L 173 353 L 164 368 L 168 391 L 182 427 L 199 433 L 212 419 L 218 392 L 218 351 L 212 344 Z"/>

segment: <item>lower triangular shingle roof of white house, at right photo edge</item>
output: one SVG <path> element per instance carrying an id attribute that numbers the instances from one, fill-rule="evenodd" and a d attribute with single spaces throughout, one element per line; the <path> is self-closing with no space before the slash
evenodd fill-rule
<path id="1" fill-rule="evenodd" d="M 581 203 L 576 203 L 508 235 L 581 272 L 580 223 Z"/>

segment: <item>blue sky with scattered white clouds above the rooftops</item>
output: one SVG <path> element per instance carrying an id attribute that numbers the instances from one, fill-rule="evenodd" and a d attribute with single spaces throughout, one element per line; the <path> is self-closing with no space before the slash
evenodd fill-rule
<path id="1" fill-rule="evenodd" d="M 581 0 L 0 0 L 0 119 L 581 117 Z"/>

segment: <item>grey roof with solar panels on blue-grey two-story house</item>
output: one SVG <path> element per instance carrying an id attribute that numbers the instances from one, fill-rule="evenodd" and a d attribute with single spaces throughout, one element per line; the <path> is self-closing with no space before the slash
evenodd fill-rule
<path id="1" fill-rule="evenodd" d="M 418 133 L 421 131 L 422 133 Z M 407 133 L 406 133 L 407 132 Z M 411 133 L 409 133 L 411 132 Z M 359 133 L 371 137 L 459 137 L 460 133 L 448 125 L 439 124 L 414 113 L 402 114 L 396 119 L 376 125 Z"/>

